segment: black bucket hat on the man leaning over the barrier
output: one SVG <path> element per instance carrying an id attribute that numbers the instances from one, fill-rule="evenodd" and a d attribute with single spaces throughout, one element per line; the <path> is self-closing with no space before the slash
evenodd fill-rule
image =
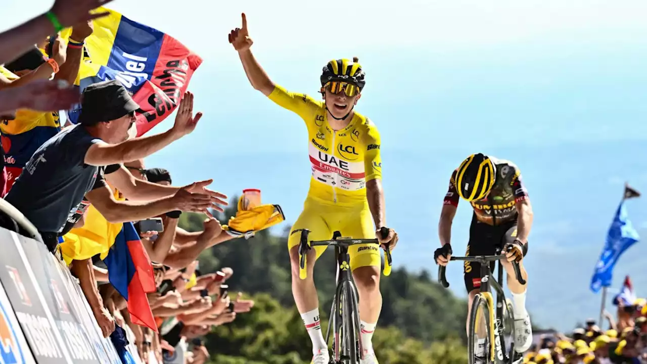
<path id="1" fill-rule="evenodd" d="M 139 109 L 126 87 L 116 80 L 85 87 L 81 100 L 79 123 L 83 125 L 119 119 Z"/>

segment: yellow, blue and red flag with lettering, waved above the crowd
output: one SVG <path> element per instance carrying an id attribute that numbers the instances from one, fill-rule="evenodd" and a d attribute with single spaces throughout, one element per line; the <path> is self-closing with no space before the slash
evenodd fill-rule
<path id="1" fill-rule="evenodd" d="M 80 92 L 87 85 L 104 80 L 119 80 L 140 106 L 137 136 L 166 119 L 179 104 L 193 72 L 202 58 L 175 38 L 147 27 L 106 8 L 110 12 L 94 20 L 94 32 L 85 40 L 89 62 L 83 62 L 76 85 Z M 69 38 L 71 30 L 61 34 Z M 68 111 L 76 124 L 80 105 Z"/>

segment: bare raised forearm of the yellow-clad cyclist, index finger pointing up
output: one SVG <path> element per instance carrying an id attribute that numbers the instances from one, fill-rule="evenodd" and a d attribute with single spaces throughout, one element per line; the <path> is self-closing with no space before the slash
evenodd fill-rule
<path id="1" fill-rule="evenodd" d="M 243 63 L 243 68 L 245 69 L 245 74 L 252 84 L 254 89 L 261 91 L 263 95 L 269 96 L 272 91 L 274 91 L 274 83 L 270 80 L 267 73 L 263 70 L 263 67 L 258 64 L 254 54 L 252 54 L 252 38 L 249 37 L 247 30 L 247 17 L 245 13 L 242 14 L 243 25 L 242 28 L 236 28 L 232 30 L 229 34 L 229 43 L 232 43 L 234 49 L 238 51 L 238 56 Z"/>

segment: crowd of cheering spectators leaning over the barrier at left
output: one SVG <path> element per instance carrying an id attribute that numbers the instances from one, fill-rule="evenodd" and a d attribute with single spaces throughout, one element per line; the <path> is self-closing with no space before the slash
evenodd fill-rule
<path id="1" fill-rule="evenodd" d="M 44 120 L 48 127 L 39 129 L 38 142 L 31 138 L 16 146 L 31 155 L 23 165 L 3 155 L 0 191 L 38 229 L 52 255 L 69 266 L 105 337 L 115 332 L 130 336 L 145 363 L 204 363 L 209 354 L 201 337 L 254 305 L 240 293 L 230 296 L 226 281 L 232 269 L 204 274 L 197 262 L 204 249 L 234 237 L 223 233 L 212 214 L 223 211 L 227 196 L 208 189 L 211 180 L 173 187 L 167 170 L 144 166 L 145 157 L 195 130 L 202 114 L 193 112 L 192 93 L 182 97 L 169 130 L 135 137 L 139 106 L 120 82 L 89 85 L 82 95 L 73 87 L 83 42 L 93 34 L 91 20 L 105 15 L 90 10 L 108 2 L 56 0 L 47 14 L 0 34 L 3 143 L 5 135 L 19 135 L 21 123 Z M 61 27 L 72 27 L 69 41 L 48 39 Z M 61 126 L 60 110 L 79 102 L 78 124 Z M 6 128 L 17 132 L 6 133 Z M 206 214 L 204 231 L 190 233 L 178 226 L 186 211 Z M 139 234 L 157 286 L 147 293 L 157 332 L 133 323 L 126 299 L 108 283 L 107 251 L 83 256 L 78 253 L 83 247 L 66 240 L 66 234 L 97 219 L 124 229 L 133 223 Z M 2 220 L 6 226 L 6 218 Z M 64 258 L 65 244 L 76 254 Z"/>

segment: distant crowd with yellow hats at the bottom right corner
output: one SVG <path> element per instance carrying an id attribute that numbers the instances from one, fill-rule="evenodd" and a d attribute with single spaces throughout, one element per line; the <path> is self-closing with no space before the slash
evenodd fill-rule
<path id="1" fill-rule="evenodd" d="M 523 358 L 525 364 L 645 364 L 647 363 L 647 301 L 617 302 L 617 315 L 604 312 L 606 328 L 587 319 L 569 335 L 542 334 Z"/>

